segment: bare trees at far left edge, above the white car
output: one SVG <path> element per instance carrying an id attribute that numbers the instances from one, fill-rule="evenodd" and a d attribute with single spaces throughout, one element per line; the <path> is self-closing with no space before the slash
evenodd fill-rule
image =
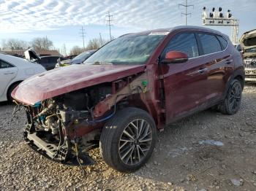
<path id="1" fill-rule="evenodd" d="M 1 46 L 3 50 L 23 50 L 29 47 L 29 42 L 20 39 L 4 39 Z"/>

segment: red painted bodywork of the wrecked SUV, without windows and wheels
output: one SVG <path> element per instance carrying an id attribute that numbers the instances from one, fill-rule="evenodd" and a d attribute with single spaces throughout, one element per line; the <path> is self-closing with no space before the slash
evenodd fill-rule
<path id="1" fill-rule="evenodd" d="M 241 55 L 230 40 L 227 49 L 221 52 L 201 55 L 184 63 L 159 63 L 159 56 L 173 36 L 187 31 L 218 34 L 228 39 L 225 34 L 200 27 L 180 26 L 141 32 L 140 34 L 169 32 L 145 66 L 64 67 L 61 70 L 47 71 L 42 77 L 26 80 L 12 92 L 12 97 L 25 104 L 34 104 L 46 98 L 102 82 L 113 82 L 115 85 L 118 82 L 114 81 L 145 70 L 150 91 L 140 96 L 134 95 L 133 98 L 136 100 L 129 100 L 129 104 L 146 109 L 154 117 L 157 127 L 163 128 L 174 120 L 218 104 L 224 98 L 231 78 L 240 75 L 244 79 Z M 182 52 L 168 52 L 166 58 L 186 56 Z M 225 63 L 227 60 L 230 60 L 230 63 Z M 113 88 L 114 92 L 116 88 Z"/>

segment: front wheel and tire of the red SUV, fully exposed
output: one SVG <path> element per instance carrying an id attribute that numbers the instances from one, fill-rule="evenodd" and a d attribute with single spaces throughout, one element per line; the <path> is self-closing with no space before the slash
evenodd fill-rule
<path id="1" fill-rule="evenodd" d="M 151 156 L 157 139 L 153 118 L 142 109 L 120 110 L 102 130 L 99 149 L 103 160 L 121 172 L 138 170 Z"/>

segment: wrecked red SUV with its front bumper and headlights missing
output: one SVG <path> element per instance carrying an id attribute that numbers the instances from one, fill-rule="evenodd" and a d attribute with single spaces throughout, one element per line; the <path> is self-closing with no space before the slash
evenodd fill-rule
<path id="1" fill-rule="evenodd" d="M 37 152 L 85 164 L 99 146 L 108 165 L 131 172 L 151 156 L 157 130 L 212 106 L 235 114 L 243 87 L 241 54 L 225 34 L 179 26 L 120 36 L 12 97 L 26 108 L 24 137 Z"/>

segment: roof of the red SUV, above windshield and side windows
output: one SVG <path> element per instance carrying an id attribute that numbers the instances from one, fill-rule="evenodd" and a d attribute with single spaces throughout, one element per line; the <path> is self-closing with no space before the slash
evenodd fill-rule
<path id="1" fill-rule="evenodd" d="M 148 30 L 148 31 L 141 31 L 138 33 L 132 33 L 132 34 L 151 34 L 151 33 L 165 33 L 165 32 L 172 32 L 172 31 L 184 31 L 184 30 L 189 30 L 189 31 L 202 31 L 206 33 L 212 33 L 212 34 L 219 34 L 222 36 L 226 36 L 225 34 L 222 34 L 219 31 L 216 31 L 211 28 L 206 28 L 206 27 L 201 27 L 201 26 L 176 26 L 172 28 L 158 28 L 158 29 L 153 29 L 153 30 Z M 122 36 L 129 35 L 129 34 L 124 34 Z"/>

